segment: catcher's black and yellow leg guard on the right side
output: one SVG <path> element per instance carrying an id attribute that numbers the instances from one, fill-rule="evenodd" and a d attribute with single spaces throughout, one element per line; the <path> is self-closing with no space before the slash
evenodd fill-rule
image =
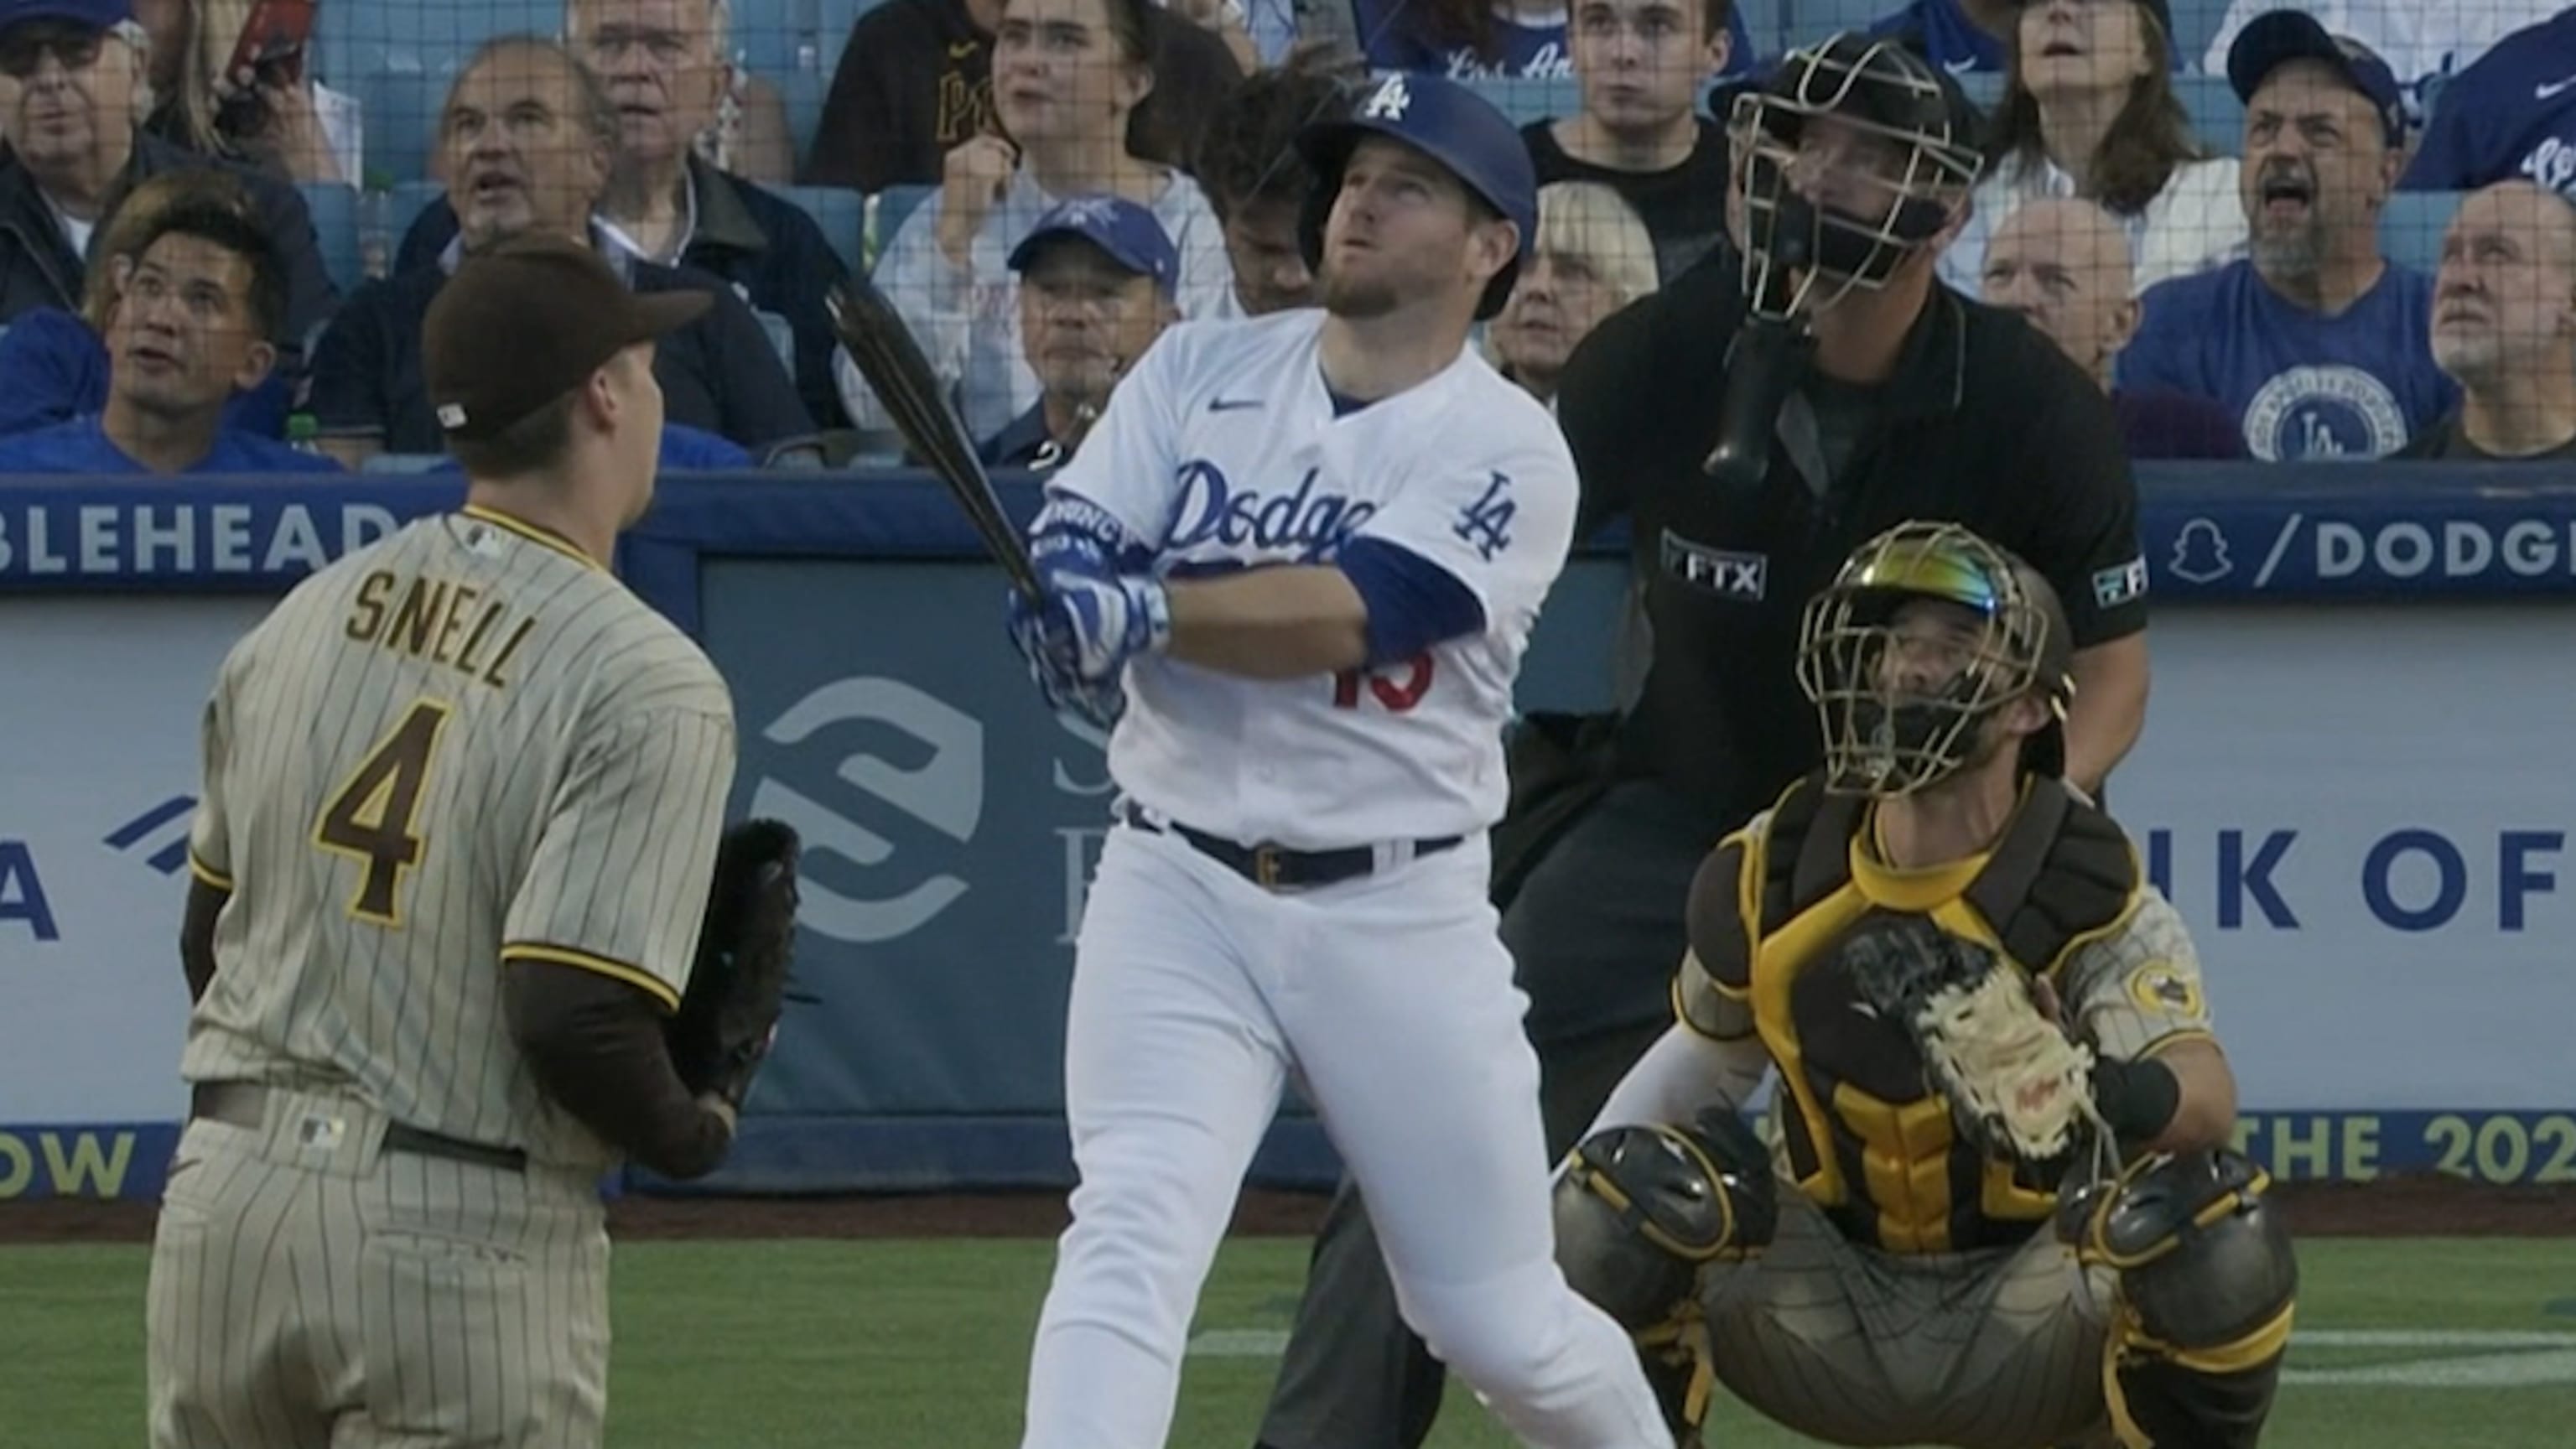
<path id="1" fill-rule="evenodd" d="M 2120 1274 L 2102 1364 L 2128 1449 L 2251 1449 L 2290 1346 L 2298 1258 L 2236 1152 L 2143 1158 L 2069 1201 L 2076 1250 Z"/>

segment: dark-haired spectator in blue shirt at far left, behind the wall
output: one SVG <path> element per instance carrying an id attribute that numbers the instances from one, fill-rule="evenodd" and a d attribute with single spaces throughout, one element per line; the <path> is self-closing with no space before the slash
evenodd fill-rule
<path id="1" fill-rule="evenodd" d="M 108 405 L 0 438 L 0 472 L 340 472 L 224 425 L 268 382 L 286 330 L 283 268 L 258 222 L 206 201 L 170 206 L 118 291 Z"/>

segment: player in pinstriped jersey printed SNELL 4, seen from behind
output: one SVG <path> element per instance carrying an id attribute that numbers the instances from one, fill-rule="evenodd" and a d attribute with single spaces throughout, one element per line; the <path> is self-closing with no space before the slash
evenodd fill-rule
<path id="1" fill-rule="evenodd" d="M 739 1101 L 662 1044 L 732 699 L 605 567 L 652 492 L 652 338 L 703 307 L 572 242 L 466 260 L 422 369 L 464 511 L 317 572 L 224 660 L 152 1248 L 160 1449 L 600 1441 L 598 1181 L 714 1168 Z"/>

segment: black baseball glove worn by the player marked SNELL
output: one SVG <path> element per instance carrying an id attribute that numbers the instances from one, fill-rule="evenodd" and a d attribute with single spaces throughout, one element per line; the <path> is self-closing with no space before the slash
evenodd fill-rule
<path id="1" fill-rule="evenodd" d="M 796 954 L 796 830 L 747 820 L 716 846 L 716 882 L 680 1011 L 665 1024 L 670 1062 L 693 1093 L 732 1106 L 752 1091 Z"/>

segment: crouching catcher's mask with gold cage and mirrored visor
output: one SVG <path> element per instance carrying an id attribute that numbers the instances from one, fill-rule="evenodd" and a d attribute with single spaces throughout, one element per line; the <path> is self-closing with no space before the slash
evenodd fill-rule
<path id="1" fill-rule="evenodd" d="M 1901 627 L 1911 601 L 1947 603 L 1950 619 Z M 1806 606 L 1798 688 L 1824 722 L 1826 789 L 1896 797 L 1942 781 L 2025 694 L 2050 722 L 2022 768 L 2066 771 L 2066 606 L 2038 570 L 1958 523 L 1899 523 L 1842 565 Z"/>

